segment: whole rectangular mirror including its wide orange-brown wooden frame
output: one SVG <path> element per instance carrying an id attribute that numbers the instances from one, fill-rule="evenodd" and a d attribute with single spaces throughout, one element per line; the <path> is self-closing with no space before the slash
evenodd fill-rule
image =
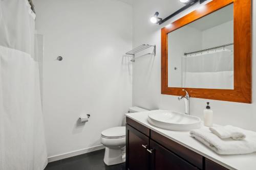
<path id="1" fill-rule="evenodd" d="M 251 103 L 251 0 L 214 0 L 161 29 L 161 94 Z"/>

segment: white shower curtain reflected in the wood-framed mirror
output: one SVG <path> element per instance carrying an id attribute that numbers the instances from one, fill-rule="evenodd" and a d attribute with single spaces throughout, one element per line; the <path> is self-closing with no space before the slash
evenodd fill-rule
<path id="1" fill-rule="evenodd" d="M 232 47 L 183 56 L 182 87 L 233 89 Z"/>

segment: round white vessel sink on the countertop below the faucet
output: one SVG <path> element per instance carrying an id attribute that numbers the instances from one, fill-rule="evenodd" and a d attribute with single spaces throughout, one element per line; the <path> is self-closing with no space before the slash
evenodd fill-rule
<path id="1" fill-rule="evenodd" d="M 147 121 L 158 128 L 173 131 L 190 131 L 201 127 L 199 117 L 168 110 L 156 110 L 148 114 Z"/>

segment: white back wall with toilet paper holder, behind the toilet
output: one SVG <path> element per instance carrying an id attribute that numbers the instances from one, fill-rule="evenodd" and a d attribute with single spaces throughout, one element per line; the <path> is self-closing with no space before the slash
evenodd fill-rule
<path id="1" fill-rule="evenodd" d="M 44 121 L 48 156 L 95 147 L 132 105 L 132 7 L 116 0 L 34 0 L 45 37 Z M 62 56 L 62 61 L 56 58 Z M 79 124 L 80 114 L 88 123 Z"/>

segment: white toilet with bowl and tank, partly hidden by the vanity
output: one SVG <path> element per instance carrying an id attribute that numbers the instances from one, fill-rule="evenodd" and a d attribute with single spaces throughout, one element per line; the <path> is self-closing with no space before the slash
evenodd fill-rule
<path id="1" fill-rule="evenodd" d="M 129 113 L 148 111 L 139 107 L 129 108 Z M 101 132 L 101 143 L 105 146 L 104 163 L 114 165 L 125 162 L 125 126 L 113 127 Z"/>

